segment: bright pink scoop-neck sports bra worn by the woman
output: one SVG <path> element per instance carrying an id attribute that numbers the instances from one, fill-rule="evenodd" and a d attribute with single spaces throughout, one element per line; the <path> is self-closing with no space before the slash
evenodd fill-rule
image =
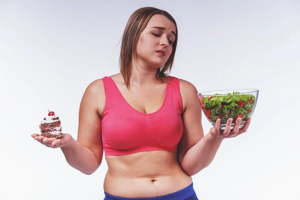
<path id="1" fill-rule="evenodd" d="M 103 77 L 105 107 L 102 116 L 102 144 L 105 155 L 140 151 L 176 151 L 183 132 L 179 79 L 168 76 L 161 107 L 152 113 L 133 108 L 111 77 Z"/>

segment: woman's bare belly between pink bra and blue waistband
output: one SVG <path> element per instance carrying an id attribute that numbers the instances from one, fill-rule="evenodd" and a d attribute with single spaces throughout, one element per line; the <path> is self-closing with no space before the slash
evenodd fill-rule
<path id="1" fill-rule="evenodd" d="M 173 193 L 192 179 L 181 169 L 176 152 L 156 150 L 105 156 L 108 170 L 104 191 L 115 196 L 140 198 Z"/>

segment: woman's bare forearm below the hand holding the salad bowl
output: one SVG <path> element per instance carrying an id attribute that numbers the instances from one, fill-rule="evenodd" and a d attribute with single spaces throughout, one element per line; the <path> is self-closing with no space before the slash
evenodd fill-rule
<path id="1" fill-rule="evenodd" d="M 208 133 L 190 147 L 180 163 L 185 173 L 191 176 L 208 166 L 212 162 L 221 141 L 222 139 L 212 138 Z"/>

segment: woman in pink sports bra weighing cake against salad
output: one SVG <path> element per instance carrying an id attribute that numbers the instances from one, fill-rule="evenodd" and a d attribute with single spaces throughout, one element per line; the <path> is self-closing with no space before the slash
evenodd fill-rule
<path id="1" fill-rule="evenodd" d="M 197 199 L 191 176 L 208 166 L 221 141 L 245 132 L 240 118 L 204 136 L 196 88 L 166 75 L 177 26 L 164 10 L 143 7 L 123 32 L 120 73 L 91 82 L 79 108 L 77 140 L 32 137 L 60 147 L 69 165 L 85 174 L 108 165 L 105 199 Z"/>

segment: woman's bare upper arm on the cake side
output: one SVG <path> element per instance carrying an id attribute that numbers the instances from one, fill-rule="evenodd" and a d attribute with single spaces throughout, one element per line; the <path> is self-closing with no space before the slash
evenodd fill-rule
<path id="1" fill-rule="evenodd" d="M 90 149 L 102 161 L 103 147 L 101 140 L 101 117 L 99 109 L 103 107 L 103 82 L 101 79 L 91 82 L 84 91 L 79 106 L 77 141 Z"/>

